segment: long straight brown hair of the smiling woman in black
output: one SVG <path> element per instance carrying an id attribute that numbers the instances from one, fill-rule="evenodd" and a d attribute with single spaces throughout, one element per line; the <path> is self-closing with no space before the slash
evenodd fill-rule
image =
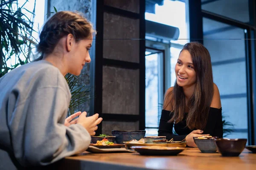
<path id="1" fill-rule="evenodd" d="M 209 51 L 199 42 L 189 42 L 183 46 L 183 50 L 189 51 L 196 73 L 195 91 L 189 101 L 185 102 L 183 88 L 175 85 L 168 95 L 172 96 L 172 112 L 169 122 L 181 122 L 185 116 L 185 108 L 189 108 L 186 117 L 186 125 L 189 129 L 204 129 L 207 123 L 209 108 L 213 96 L 212 64 Z M 180 52 L 181 52 L 180 51 Z"/>

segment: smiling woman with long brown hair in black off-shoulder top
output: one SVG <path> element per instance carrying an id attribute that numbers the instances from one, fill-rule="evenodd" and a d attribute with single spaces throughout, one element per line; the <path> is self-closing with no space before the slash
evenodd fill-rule
<path id="1" fill-rule="evenodd" d="M 222 137 L 221 100 L 209 51 L 198 42 L 184 45 L 175 74 L 175 85 L 165 94 L 158 135 L 169 140 L 186 138 L 190 147 L 196 147 L 193 137 Z M 177 135 L 172 133 L 173 125 Z"/>

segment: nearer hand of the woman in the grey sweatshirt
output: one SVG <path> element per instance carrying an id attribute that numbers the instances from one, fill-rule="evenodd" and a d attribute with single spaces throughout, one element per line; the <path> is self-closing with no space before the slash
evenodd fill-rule
<path id="1" fill-rule="evenodd" d="M 102 121 L 102 118 L 99 118 L 98 113 L 89 117 L 86 117 L 86 114 L 86 112 L 81 113 L 77 119 L 77 124 L 82 125 L 90 133 L 90 136 L 93 136 L 95 135 L 95 130 L 98 129 L 97 125 Z"/>

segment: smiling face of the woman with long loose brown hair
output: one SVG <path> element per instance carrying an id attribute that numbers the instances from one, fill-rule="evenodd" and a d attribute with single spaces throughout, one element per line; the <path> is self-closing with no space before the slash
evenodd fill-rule
<path id="1" fill-rule="evenodd" d="M 195 85 L 196 74 L 189 51 L 182 50 L 175 65 L 177 84 L 181 87 Z"/>

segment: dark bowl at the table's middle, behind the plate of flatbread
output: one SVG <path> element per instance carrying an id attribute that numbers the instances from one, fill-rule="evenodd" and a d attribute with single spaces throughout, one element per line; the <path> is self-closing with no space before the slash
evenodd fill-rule
<path id="1" fill-rule="evenodd" d="M 137 141 L 144 138 L 146 131 L 137 130 L 137 131 L 119 131 L 112 130 L 112 135 L 116 136 L 117 144 L 124 144 L 123 142 L 128 142 L 131 139 L 136 139 Z"/>

